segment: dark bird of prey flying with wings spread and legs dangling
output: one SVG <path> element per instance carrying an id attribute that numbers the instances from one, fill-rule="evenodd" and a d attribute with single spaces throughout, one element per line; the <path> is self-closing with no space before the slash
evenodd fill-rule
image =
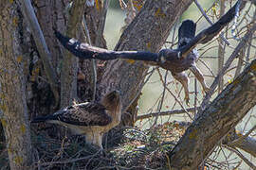
<path id="1" fill-rule="evenodd" d="M 196 67 L 195 61 L 198 59 L 198 54 L 194 47 L 198 43 L 206 43 L 212 40 L 229 22 L 234 18 L 237 8 L 244 8 L 245 2 L 240 0 L 229 9 L 215 24 L 202 30 L 195 35 L 196 25 L 187 20 L 179 27 L 178 31 L 178 48 L 162 49 L 159 53 L 147 51 L 112 51 L 91 46 L 87 43 L 82 43 L 74 38 L 68 38 L 55 30 L 55 36 L 64 45 L 68 51 L 81 59 L 135 59 L 143 60 L 147 64 L 157 65 L 161 68 L 171 71 L 174 78 L 181 82 L 185 89 L 185 100 L 189 102 L 189 78 L 184 71 L 190 69 L 195 77 L 201 83 L 203 90 L 207 92 L 207 87 L 204 77 L 200 70 Z"/>

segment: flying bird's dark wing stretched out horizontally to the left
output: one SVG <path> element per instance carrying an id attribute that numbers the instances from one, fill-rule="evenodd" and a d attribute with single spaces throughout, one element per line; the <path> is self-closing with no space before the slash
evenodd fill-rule
<path id="1" fill-rule="evenodd" d="M 157 54 L 148 51 L 112 51 L 82 43 L 74 38 L 68 38 L 59 31 L 54 30 L 56 38 L 68 51 L 81 59 L 135 59 L 156 61 Z"/>

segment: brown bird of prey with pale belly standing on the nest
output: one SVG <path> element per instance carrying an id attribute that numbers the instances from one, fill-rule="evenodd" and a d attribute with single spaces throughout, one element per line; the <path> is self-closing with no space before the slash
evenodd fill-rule
<path id="1" fill-rule="evenodd" d="M 74 104 L 53 114 L 37 117 L 31 123 L 52 123 L 68 127 L 75 134 L 85 135 L 86 143 L 102 148 L 102 136 L 119 125 L 121 103 L 118 91 L 107 93 L 101 102 Z"/>

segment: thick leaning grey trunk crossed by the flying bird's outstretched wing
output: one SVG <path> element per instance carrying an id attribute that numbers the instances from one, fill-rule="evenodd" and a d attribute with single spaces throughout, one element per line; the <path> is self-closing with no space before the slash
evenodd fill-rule
<path id="1" fill-rule="evenodd" d="M 145 50 L 158 52 L 166 41 L 174 22 L 190 5 L 192 0 L 148 0 L 138 12 L 137 17 L 124 30 L 115 50 Z M 139 92 L 143 75 L 148 66 L 141 61 L 129 63 L 127 60 L 108 62 L 101 79 L 101 95 L 112 90 L 119 90 L 123 108 L 126 108 Z M 136 100 L 137 101 L 137 100 Z M 137 104 L 133 104 L 135 110 Z M 136 111 L 124 116 L 124 126 L 134 124 Z"/>

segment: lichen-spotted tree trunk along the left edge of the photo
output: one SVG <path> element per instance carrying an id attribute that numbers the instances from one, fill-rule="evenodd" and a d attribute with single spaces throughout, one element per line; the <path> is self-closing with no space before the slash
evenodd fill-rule
<path id="1" fill-rule="evenodd" d="M 29 169 L 30 129 L 26 102 L 26 54 L 21 43 L 23 20 L 15 1 L 0 4 L 0 97 L 11 170 Z"/>

